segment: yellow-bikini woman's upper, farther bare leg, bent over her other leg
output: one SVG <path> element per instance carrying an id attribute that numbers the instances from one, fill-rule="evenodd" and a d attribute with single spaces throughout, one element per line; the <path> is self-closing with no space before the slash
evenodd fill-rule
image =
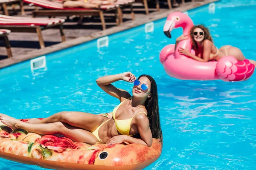
<path id="1" fill-rule="evenodd" d="M 29 123 L 53 123 L 53 122 L 64 122 L 74 127 L 80 127 L 90 132 L 94 131 L 102 122 L 108 120 L 108 118 L 84 112 L 75 111 L 64 111 L 55 113 L 45 119 L 32 119 Z"/>

